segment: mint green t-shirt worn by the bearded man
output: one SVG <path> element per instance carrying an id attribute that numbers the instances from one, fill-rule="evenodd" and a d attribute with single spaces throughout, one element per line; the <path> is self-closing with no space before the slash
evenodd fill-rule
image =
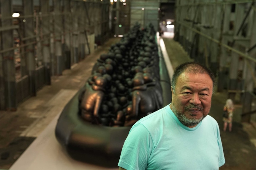
<path id="1" fill-rule="evenodd" d="M 207 115 L 189 128 L 167 105 L 133 125 L 118 166 L 127 170 L 216 170 L 224 163 L 216 120 Z"/>

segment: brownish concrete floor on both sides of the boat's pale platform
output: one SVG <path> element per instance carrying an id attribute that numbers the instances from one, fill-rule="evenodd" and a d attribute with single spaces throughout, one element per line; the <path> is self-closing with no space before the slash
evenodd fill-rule
<path id="1" fill-rule="evenodd" d="M 173 69 L 178 64 L 190 61 L 181 45 L 170 36 L 163 35 L 167 53 Z M 9 169 L 33 140 L 51 122 L 75 93 L 83 86 L 91 68 L 99 55 L 108 52 L 109 47 L 120 38 L 111 38 L 104 46 L 63 75 L 52 77 L 52 84 L 37 92 L 36 97 L 20 103 L 16 112 L 0 111 L 0 169 Z M 222 108 L 227 99 L 227 92 L 215 93 L 212 98 L 211 116 L 223 128 Z M 256 169 L 256 129 L 252 124 L 241 123 L 241 105 L 236 105 L 233 118 L 233 131 L 221 130 L 226 163 L 220 170 L 255 170 Z"/>

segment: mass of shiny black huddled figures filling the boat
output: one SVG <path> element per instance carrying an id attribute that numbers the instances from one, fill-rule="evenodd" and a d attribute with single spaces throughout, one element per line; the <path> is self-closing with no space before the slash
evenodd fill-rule
<path id="1" fill-rule="evenodd" d="M 136 24 L 101 54 L 79 95 L 79 115 L 92 124 L 132 126 L 162 107 L 155 30 Z"/>

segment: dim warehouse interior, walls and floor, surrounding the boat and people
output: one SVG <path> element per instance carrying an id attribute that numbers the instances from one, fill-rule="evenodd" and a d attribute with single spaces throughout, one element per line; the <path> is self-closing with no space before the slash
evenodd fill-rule
<path id="1" fill-rule="evenodd" d="M 211 116 L 220 129 L 226 99 L 236 107 L 233 131 L 221 131 L 220 169 L 255 169 L 253 0 L 0 0 L 0 14 L 0 169 L 109 169 L 74 161 L 49 140 L 100 55 L 137 23 L 154 26 L 167 67 L 197 61 L 213 70 Z"/>

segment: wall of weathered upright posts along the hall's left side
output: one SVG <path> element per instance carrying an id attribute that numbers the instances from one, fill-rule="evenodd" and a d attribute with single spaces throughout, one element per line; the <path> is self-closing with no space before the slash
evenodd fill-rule
<path id="1" fill-rule="evenodd" d="M 112 12 L 109 1 L 14 1 L 0 0 L 0 109 L 10 111 L 107 41 Z"/>

